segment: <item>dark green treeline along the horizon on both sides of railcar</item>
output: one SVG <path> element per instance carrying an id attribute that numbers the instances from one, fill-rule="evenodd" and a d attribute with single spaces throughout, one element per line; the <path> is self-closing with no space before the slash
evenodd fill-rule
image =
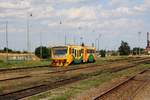
<path id="1" fill-rule="evenodd" d="M 28 53 L 27 51 L 15 51 L 6 47 L 3 50 L 0 50 L 0 53 L 6 53 L 7 51 L 8 53 L 18 53 L 18 54 Z M 46 47 L 46 46 L 39 46 L 35 48 L 34 53 L 37 57 L 42 58 L 42 59 L 51 58 L 51 48 Z M 105 56 L 119 56 L 119 55 L 120 56 L 148 55 L 148 52 L 146 52 L 145 49 L 139 48 L 139 47 L 134 47 L 133 49 L 131 49 L 131 47 L 129 46 L 127 42 L 122 41 L 117 51 L 100 50 L 100 51 L 97 51 L 97 54 L 101 57 L 105 57 Z"/>

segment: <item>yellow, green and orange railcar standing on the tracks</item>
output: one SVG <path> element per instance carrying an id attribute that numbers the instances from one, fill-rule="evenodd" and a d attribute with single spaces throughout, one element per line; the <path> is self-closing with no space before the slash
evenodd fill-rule
<path id="1" fill-rule="evenodd" d="M 57 46 L 52 48 L 52 66 L 68 66 L 96 61 L 96 49 L 87 46 Z"/>

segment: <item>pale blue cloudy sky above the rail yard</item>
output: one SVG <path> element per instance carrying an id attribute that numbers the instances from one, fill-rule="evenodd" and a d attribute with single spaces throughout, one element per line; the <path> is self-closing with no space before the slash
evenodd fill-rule
<path id="1" fill-rule="evenodd" d="M 32 50 L 40 40 L 64 45 L 65 35 L 67 44 L 91 46 L 99 39 L 100 49 L 117 50 L 123 40 L 145 48 L 150 0 L 0 0 L 0 49 L 6 46 L 6 22 L 14 50 L 27 50 L 27 23 Z"/>

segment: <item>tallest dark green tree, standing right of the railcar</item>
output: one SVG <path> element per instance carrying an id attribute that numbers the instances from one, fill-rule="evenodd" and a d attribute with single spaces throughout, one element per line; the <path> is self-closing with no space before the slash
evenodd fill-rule
<path id="1" fill-rule="evenodd" d="M 121 46 L 119 47 L 120 55 L 129 55 L 130 54 L 130 46 L 127 42 L 121 41 Z"/>

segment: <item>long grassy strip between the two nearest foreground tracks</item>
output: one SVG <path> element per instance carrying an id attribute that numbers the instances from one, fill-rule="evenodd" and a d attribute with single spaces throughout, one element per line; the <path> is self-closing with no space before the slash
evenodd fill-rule
<path id="1" fill-rule="evenodd" d="M 130 76 L 146 68 L 150 68 L 150 64 L 139 65 L 137 67 L 129 68 L 127 70 L 119 71 L 117 73 L 109 73 L 104 71 L 100 75 L 79 81 L 77 83 L 73 83 L 66 87 L 60 87 L 54 90 L 50 90 L 48 92 L 41 93 L 28 99 L 67 100 L 68 98 L 76 97 L 78 94 L 88 91 L 91 88 L 95 88 L 105 82 L 109 82 L 114 78 Z"/>

